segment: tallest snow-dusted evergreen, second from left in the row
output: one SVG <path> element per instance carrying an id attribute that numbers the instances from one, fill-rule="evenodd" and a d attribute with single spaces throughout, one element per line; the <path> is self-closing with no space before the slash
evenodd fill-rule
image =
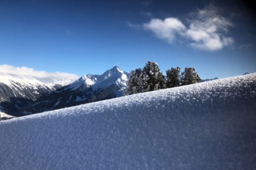
<path id="1" fill-rule="evenodd" d="M 160 72 L 159 66 L 156 62 L 148 61 L 143 70 L 143 89 L 145 91 L 154 91 L 164 89 L 165 76 Z"/>

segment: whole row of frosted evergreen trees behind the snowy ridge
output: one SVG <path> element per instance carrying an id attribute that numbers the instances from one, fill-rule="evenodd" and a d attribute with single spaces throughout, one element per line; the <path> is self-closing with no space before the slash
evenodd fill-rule
<path id="1" fill-rule="evenodd" d="M 166 76 L 160 72 L 156 62 L 148 61 L 144 68 L 131 71 L 128 79 L 125 95 L 137 94 L 146 91 L 154 91 L 165 88 L 178 87 L 201 82 L 196 69 L 186 67 L 180 73 L 180 67 L 171 68 L 166 71 Z"/>

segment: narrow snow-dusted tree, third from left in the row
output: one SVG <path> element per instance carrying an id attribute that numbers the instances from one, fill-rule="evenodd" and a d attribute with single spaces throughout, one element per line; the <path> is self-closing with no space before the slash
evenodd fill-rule
<path id="1" fill-rule="evenodd" d="M 180 86 L 180 67 L 167 70 L 165 87 L 170 88 L 178 86 Z"/>

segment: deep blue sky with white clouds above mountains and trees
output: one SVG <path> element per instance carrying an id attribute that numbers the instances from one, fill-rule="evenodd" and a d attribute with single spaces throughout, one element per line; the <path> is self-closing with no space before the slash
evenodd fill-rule
<path id="1" fill-rule="evenodd" d="M 202 79 L 256 72 L 253 9 L 239 1 L 0 1 L 0 65 L 82 76 L 156 61 Z"/>

